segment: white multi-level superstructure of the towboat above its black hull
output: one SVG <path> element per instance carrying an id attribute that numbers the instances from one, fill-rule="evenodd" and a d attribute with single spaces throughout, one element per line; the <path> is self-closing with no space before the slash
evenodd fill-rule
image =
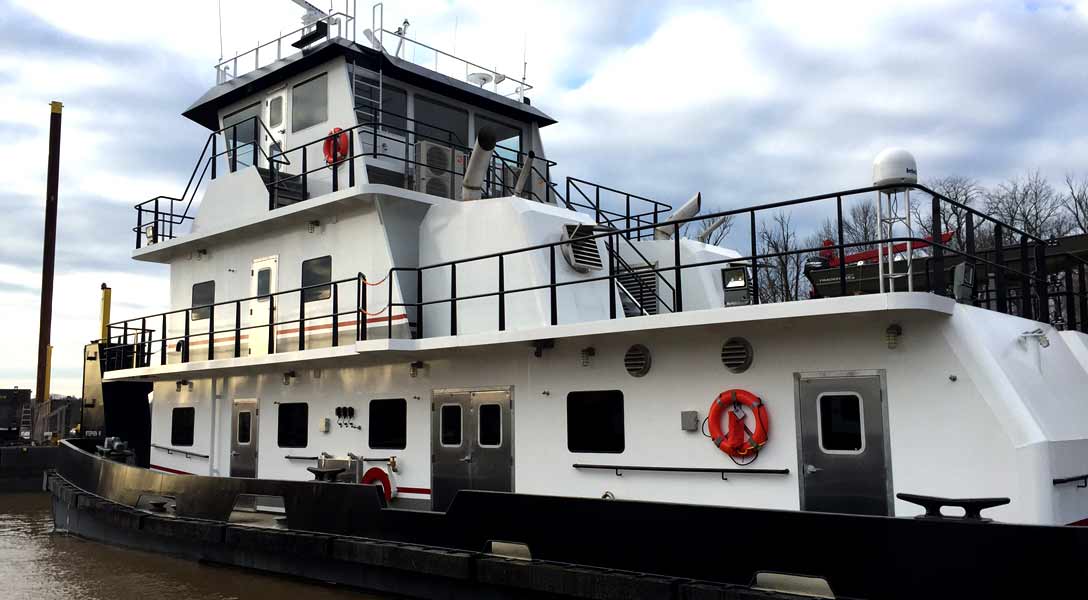
<path id="1" fill-rule="evenodd" d="M 88 346 L 88 385 L 127 385 L 104 411 L 150 421 L 140 464 L 425 511 L 492 490 L 913 516 L 897 495 L 922 494 L 1088 518 L 1084 245 L 919 185 L 902 150 L 871 186 L 710 215 L 697 189 L 558 180 L 523 74 L 372 14 L 318 11 L 184 112 L 209 132 L 191 177 L 132 229 L 171 309 Z M 856 201 L 878 233 L 848 243 Z M 800 208 L 834 238 L 758 244 Z M 734 248 L 708 243 L 726 224 Z M 808 297 L 764 293 L 782 260 Z"/>

